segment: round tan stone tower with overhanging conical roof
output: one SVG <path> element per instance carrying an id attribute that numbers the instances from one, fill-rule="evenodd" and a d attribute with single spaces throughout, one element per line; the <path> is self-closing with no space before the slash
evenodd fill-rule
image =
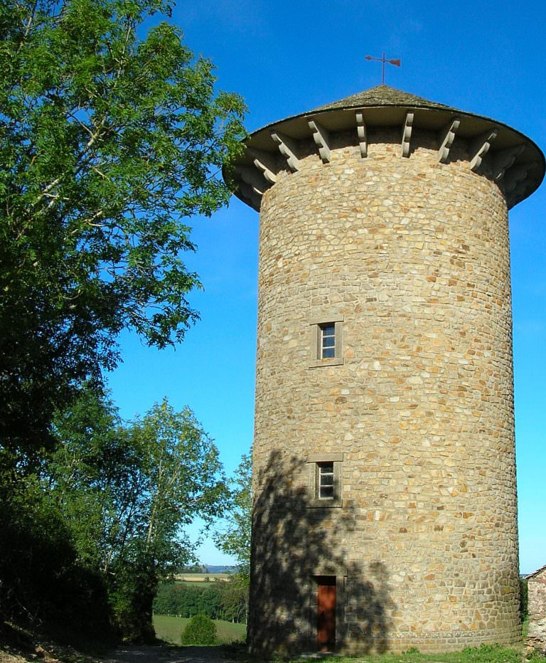
<path id="1" fill-rule="evenodd" d="M 381 85 L 252 134 L 252 652 L 520 638 L 508 209 L 519 132 Z"/>

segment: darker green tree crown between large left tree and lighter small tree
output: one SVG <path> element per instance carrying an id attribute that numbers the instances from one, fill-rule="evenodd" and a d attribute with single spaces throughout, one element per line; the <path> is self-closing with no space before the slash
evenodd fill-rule
<path id="1" fill-rule="evenodd" d="M 108 573 L 127 538 L 141 458 L 112 401 L 85 383 L 70 410 L 54 421 L 56 446 L 43 487 L 70 527 L 83 565 Z"/>

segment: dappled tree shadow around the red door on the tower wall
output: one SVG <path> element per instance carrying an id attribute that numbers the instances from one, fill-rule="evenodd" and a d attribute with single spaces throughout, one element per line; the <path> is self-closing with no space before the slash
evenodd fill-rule
<path id="1" fill-rule="evenodd" d="M 272 452 L 258 470 L 252 523 L 248 642 L 252 654 L 313 652 L 320 578 L 336 576 L 336 650 L 385 652 L 391 615 L 388 570 L 380 560 L 355 560 L 367 521 L 352 504 L 309 507 L 301 458 Z"/>

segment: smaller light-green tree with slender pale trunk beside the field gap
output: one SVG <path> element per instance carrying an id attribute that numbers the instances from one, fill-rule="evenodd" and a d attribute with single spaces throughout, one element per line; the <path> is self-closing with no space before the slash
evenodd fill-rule
<path id="1" fill-rule="evenodd" d="M 166 401 L 154 405 L 133 423 L 130 437 L 143 465 L 132 494 L 127 537 L 110 568 L 117 593 L 126 602 L 118 612 L 119 622 L 133 623 L 129 630 L 135 639 L 140 630 L 145 637 L 151 628 L 159 579 L 192 558 L 181 527 L 196 515 L 207 521 L 220 514 L 225 487 L 218 450 L 190 410 L 176 413 Z M 143 583 L 138 588 L 134 568 L 141 569 Z"/>

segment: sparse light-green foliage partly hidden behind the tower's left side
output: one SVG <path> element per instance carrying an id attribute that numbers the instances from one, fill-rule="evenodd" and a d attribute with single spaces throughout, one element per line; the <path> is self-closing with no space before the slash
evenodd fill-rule
<path id="1" fill-rule="evenodd" d="M 230 501 L 226 525 L 216 531 L 215 543 L 237 560 L 239 573 L 250 580 L 250 535 L 252 531 L 252 459 L 244 455 L 230 482 Z"/>

